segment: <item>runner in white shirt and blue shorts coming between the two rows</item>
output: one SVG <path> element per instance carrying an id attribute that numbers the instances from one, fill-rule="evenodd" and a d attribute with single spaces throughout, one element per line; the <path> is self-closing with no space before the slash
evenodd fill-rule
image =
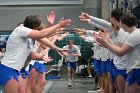
<path id="1" fill-rule="evenodd" d="M 78 57 L 81 56 L 80 49 L 74 45 L 73 40 L 68 41 L 68 45 L 64 46 L 63 49 L 68 49 L 68 53 L 65 56 L 65 60 L 67 62 L 68 68 L 68 87 L 72 87 L 74 85 L 74 76 L 76 71 L 76 62 L 78 61 Z"/>

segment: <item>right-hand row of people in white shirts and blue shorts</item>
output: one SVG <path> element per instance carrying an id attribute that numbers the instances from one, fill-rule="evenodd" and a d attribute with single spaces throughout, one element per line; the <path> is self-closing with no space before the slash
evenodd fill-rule
<path id="1" fill-rule="evenodd" d="M 140 31 L 135 27 L 136 17 L 114 9 L 108 21 L 88 13 L 82 13 L 79 18 L 97 28 L 96 31 L 75 29 L 76 33 L 94 46 L 94 69 L 100 87 L 97 91 L 139 93 Z"/>

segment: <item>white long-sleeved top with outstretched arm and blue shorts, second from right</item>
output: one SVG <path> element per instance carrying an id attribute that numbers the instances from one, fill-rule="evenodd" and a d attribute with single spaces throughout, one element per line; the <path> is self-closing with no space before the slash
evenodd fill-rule
<path id="1" fill-rule="evenodd" d="M 126 37 L 128 35 L 128 33 L 124 32 L 122 29 L 120 29 L 118 31 L 118 33 L 112 32 L 111 23 L 109 23 L 103 19 L 99 19 L 96 17 L 90 17 L 89 23 L 96 23 L 99 26 L 101 26 L 102 28 L 106 29 L 107 31 L 110 31 L 111 38 L 114 43 L 119 43 L 119 42 L 124 43 L 126 40 Z M 119 74 L 121 74 L 126 79 L 127 74 L 126 74 L 125 57 L 118 57 L 117 55 L 114 55 L 113 53 L 111 53 L 110 58 L 111 58 L 111 60 L 108 61 L 108 72 L 110 72 L 113 82 L 115 82 L 115 79 Z"/>

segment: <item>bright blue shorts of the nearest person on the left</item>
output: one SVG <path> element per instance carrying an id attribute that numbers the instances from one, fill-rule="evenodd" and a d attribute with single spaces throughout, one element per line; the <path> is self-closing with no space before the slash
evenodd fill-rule
<path id="1" fill-rule="evenodd" d="M 11 78 L 18 82 L 19 71 L 0 64 L 0 85 L 5 85 Z"/>

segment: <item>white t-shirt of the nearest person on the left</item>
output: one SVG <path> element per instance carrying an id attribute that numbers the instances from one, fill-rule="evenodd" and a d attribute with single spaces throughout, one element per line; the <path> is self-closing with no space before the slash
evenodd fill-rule
<path id="1" fill-rule="evenodd" d="M 5 56 L 1 64 L 10 68 L 20 70 L 30 54 L 32 42 L 28 39 L 28 34 L 32 29 L 19 25 L 9 36 L 6 45 Z"/>

